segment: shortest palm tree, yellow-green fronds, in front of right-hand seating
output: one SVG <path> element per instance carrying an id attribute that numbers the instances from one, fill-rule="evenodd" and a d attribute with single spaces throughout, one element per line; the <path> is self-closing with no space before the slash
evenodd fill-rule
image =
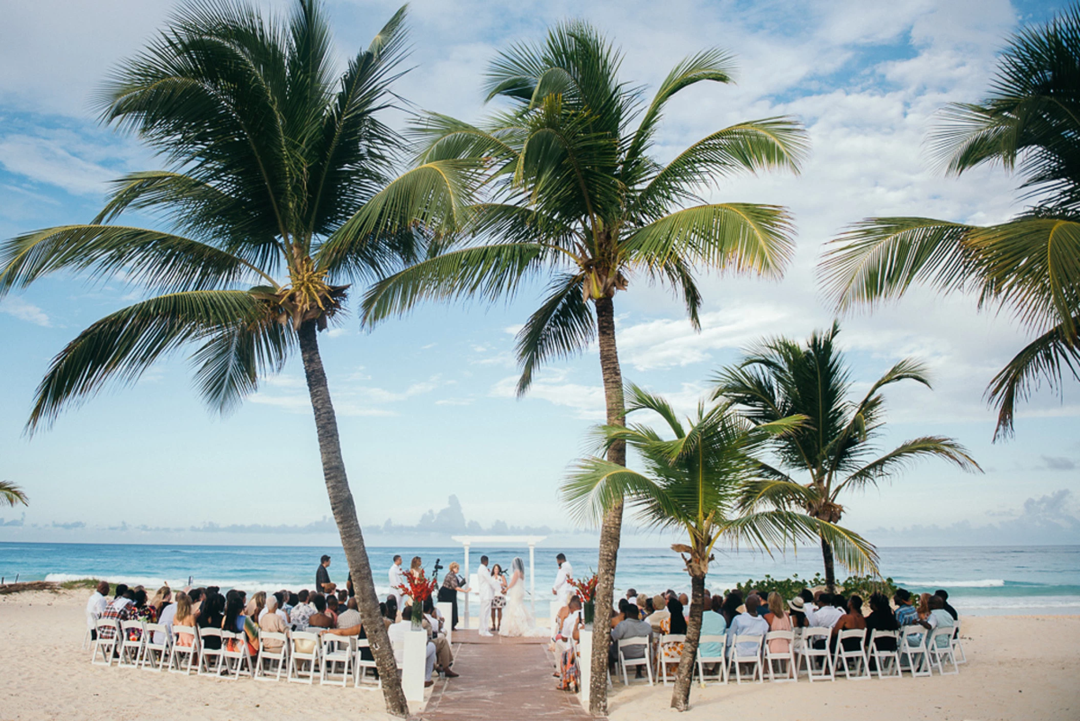
<path id="1" fill-rule="evenodd" d="M 672 693 L 672 708 L 685 711 L 701 639 L 705 576 L 717 542 L 725 538 L 732 545 L 769 550 L 801 539 L 828 538 L 846 564 L 875 572 L 877 556 L 868 542 L 832 522 L 787 508 L 762 508 L 758 502 L 755 489 L 762 481 L 755 454 L 770 439 L 797 431 L 802 417 L 754 424 L 725 401 L 707 410 L 699 404 L 697 416 L 684 426 L 663 398 L 636 386 L 630 386 L 626 395 L 627 414 L 654 412 L 674 438 L 639 424 L 598 428 L 602 448 L 629 445 L 637 452 L 644 470 L 606 458 L 584 458 L 563 485 L 563 499 L 577 519 L 596 522 L 625 498 L 647 525 L 686 534 L 689 543 L 672 545 L 686 564 L 692 588 L 686 642 Z"/>

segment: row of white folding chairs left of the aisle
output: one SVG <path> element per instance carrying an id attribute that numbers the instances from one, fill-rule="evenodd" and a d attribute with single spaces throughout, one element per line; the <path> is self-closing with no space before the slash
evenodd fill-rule
<path id="1" fill-rule="evenodd" d="M 194 668 L 198 676 L 224 673 L 239 679 L 244 675 L 257 681 L 280 681 L 284 671 L 286 681 L 308 684 L 314 683 L 318 669 L 323 685 L 345 686 L 351 679 L 357 687 L 381 686 L 375 662 L 363 657 L 369 649 L 367 639 L 311 631 L 261 631 L 253 660 L 243 631 L 175 625 L 170 631 L 162 624 L 112 618 L 98 619 L 96 631 L 91 663 L 97 666 L 111 666 L 116 659 L 118 667 L 167 669 L 173 673 L 190 673 Z M 219 641 L 214 644 L 218 647 L 206 646 L 210 638 Z M 278 642 L 278 651 L 269 651 L 267 641 Z"/>

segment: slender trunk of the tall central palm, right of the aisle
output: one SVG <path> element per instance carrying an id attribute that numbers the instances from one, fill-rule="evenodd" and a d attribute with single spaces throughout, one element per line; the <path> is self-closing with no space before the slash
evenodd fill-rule
<path id="1" fill-rule="evenodd" d="M 600 349 L 600 372 L 604 375 L 607 423 L 609 426 L 623 426 L 626 424 L 626 410 L 622 396 L 619 350 L 615 344 L 615 304 L 611 298 L 596 301 L 596 335 Z M 608 460 L 625 466 L 626 444 L 622 441 L 612 443 L 608 450 Z M 615 602 L 615 570 L 622 531 L 622 500 L 615 504 L 600 524 L 599 560 L 596 566 L 598 579 L 593 601 L 593 673 L 589 686 L 589 710 L 596 716 L 607 716 L 607 654 L 611 644 L 611 606 Z"/>

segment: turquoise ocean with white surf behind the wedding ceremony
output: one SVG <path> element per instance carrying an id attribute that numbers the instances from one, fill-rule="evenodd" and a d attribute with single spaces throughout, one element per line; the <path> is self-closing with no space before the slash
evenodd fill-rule
<path id="1" fill-rule="evenodd" d="M 812 577 L 822 570 L 816 549 L 797 556 L 762 556 L 750 551 L 718 551 L 711 565 L 706 587 L 714 592 L 765 574 Z M 537 602 L 551 598 L 556 548 L 536 549 Z M 879 548 L 882 575 L 913 592 L 949 591 L 949 602 L 963 614 L 1080 614 L 1080 546 Z M 595 551 L 565 549 L 575 575 L 595 568 Z M 345 553 L 340 547 L 296 546 L 156 546 L 121 544 L 26 544 L 0 543 L 0 576 L 6 582 L 71 580 L 97 577 L 129 585 L 156 588 L 167 582 L 185 586 L 189 578 L 199 586 L 246 590 L 299 590 L 314 583 L 315 566 L 323 553 L 332 557 L 330 578 L 343 584 Z M 443 566 L 457 561 L 464 568 L 460 546 L 426 548 L 369 548 L 379 596 L 389 588 L 387 570 L 394 553 L 423 559 L 430 574 L 436 559 Z M 491 563 L 510 565 L 521 556 L 528 566 L 527 548 L 473 546 L 473 572 L 484 553 Z M 445 573 L 445 572 L 444 572 Z M 845 574 L 838 570 L 838 575 Z M 689 577 L 678 556 L 667 549 L 624 548 L 619 552 L 617 593 L 627 588 L 650 595 L 667 588 L 689 590 Z"/>

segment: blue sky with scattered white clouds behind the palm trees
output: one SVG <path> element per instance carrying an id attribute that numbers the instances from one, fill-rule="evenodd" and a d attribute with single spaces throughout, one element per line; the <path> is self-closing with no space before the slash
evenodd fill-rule
<path id="1" fill-rule="evenodd" d="M 0 236 L 87 221 L 109 178 L 156 166 L 132 138 L 98 126 L 91 97 L 172 6 L 45 0 L 5 10 Z M 944 103 L 985 92 L 1010 32 L 1061 6 L 421 1 L 410 5 L 415 70 L 399 90 L 417 107 L 476 118 L 481 75 L 498 49 L 582 16 L 625 51 L 624 77 L 651 86 L 688 52 L 719 45 L 737 55 L 737 85 L 694 89 L 672 104 L 661 160 L 738 120 L 792 114 L 807 124 L 813 148 L 800 177 L 745 178 L 711 191 L 716 199 L 791 206 L 799 251 L 783 282 L 706 278 L 700 334 L 662 288 L 634 285 L 617 298 L 625 377 L 689 410 L 707 390 L 707 377 L 740 347 L 769 334 L 804 337 L 832 321 L 813 266 L 821 244 L 846 224 L 890 214 L 993 223 L 1020 208 L 1015 178 L 994 169 L 943 178 L 922 142 Z M 395 5 L 335 0 L 327 9 L 343 57 L 366 45 Z M 594 352 L 554 363 L 527 398 L 514 398 L 513 333 L 539 291 L 525 289 L 496 307 L 424 307 L 374 332 L 350 318 L 324 336 L 357 510 L 377 540 L 386 540 L 376 526 L 388 519 L 399 526 L 391 535 L 401 535 L 429 509 L 447 506 L 451 494 L 464 517 L 485 529 L 501 521 L 548 526 L 559 537 L 573 530 L 556 488 L 567 464 L 586 450 L 586 430 L 602 418 L 599 369 Z M 333 537 L 322 524 L 329 508 L 295 363 L 268 378 L 239 412 L 219 418 L 200 405 L 177 355 L 134 388 L 103 392 L 52 430 L 32 440 L 22 436 L 50 359 L 89 323 L 138 297 L 139 289 L 122 279 L 87 286 L 56 276 L 0 302 L 0 477 L 21 483 L 32 502 L 25 516 L 0 510 L 0 540 Z M 978 315 L 970 298 L 915 293 L 874 316 L 846 319 L 841 337 L 860 383 L 905 356 L 933 370 L 933 391 L 901 386 L 889 392 L 885 443 L 950 435 L 987 471 L 968 476 L 920 465 L 892 486 L 848 498 L 849 525 L 883 545 L 994 543 L 1013 535 L 1080 542 L 1076 384 L 1066 387 L 1064 402 L 1037 395 L 1021 414 L 1016 439 L 990 443 L 994 413 L 983 390 L 1025 338 L 1009 318 Z M 191 530 L 207 523 L 299 532 Z M 589 538 L 565 536 L 566 543 Z"/>

